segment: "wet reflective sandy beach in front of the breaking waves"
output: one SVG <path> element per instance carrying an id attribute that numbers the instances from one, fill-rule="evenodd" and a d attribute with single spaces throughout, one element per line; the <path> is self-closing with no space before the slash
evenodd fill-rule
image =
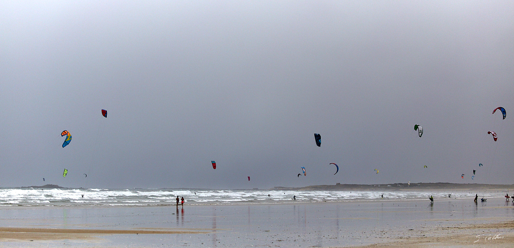
<path id="1" fill-rule="evenodd" d="M 502 198 L 2 207 L 0 247 L 467 247 L 514 244 Z"/>

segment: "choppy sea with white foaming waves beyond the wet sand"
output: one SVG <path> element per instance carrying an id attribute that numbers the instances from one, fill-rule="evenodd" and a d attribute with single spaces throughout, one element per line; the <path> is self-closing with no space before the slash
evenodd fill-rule
<path id="1" fill-rule="evenodd" d="M 196 193 L 196 194 L 195 194 Z M 0 188 L 0 206 L 154 206 L 175 204 L 177 196 L 186 204 L 260 204 L 293 202 L 345 202 L 474 198 L 477 192 L 442 192 L 441 190 L 402 190 L 393 192 L 265 190 L 265 189 L 103 189 L 103 188 Z M 84 197 L 82 197 L 84 195 Z M 268 196 L 269 195 L 269 196 Z M 296 196 L 296 200 L 293 200 Z M 480 197 L 498 197 L 502 193 L 481 192 Z"/>

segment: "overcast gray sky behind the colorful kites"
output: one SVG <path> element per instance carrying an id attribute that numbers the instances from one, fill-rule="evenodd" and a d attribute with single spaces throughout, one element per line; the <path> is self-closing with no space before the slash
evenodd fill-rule
<path id="1" fill-rule="evenodd" d="M 0 1 L 0 24 L 0 186 L 514 183 L 512 1 Z"/>

